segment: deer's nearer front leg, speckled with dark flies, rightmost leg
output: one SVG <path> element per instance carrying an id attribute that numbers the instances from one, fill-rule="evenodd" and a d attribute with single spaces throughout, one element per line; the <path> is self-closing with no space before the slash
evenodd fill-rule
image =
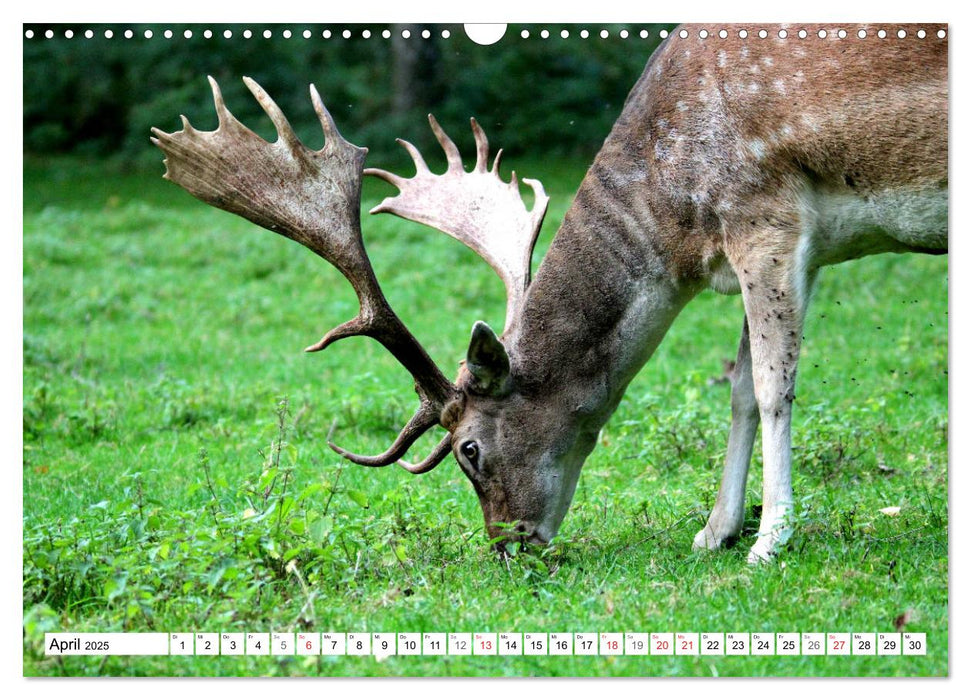
<path id="1" fill-rule="evenodd" d="M 795 246 L 787 255 L 778 239 L 774 243 L 768 250 L 747 251 L 740 270 L 762 422 L 762 518 L 750 563 L 771 559 L 792 534 L 792 402 L 813 279 Z"/>

